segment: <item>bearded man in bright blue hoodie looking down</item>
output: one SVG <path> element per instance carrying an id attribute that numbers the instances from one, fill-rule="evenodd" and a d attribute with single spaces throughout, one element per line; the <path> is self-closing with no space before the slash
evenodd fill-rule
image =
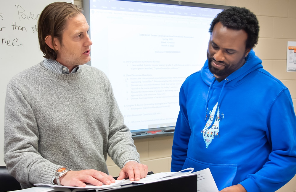
<path id="1" fill-rule="evenodd" d="M 252 50 L 248 9 L 213 19 L 207 61 L 180 90 L 171 171 L 210 168 L 219 191 L 271 192 L 296 174 L 296 117 L 287 87 Z"/>

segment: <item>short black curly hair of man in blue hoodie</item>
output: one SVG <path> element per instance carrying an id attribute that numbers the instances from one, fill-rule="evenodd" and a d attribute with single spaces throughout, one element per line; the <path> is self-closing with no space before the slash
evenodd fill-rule
<path id="1" fill-rule="evenodd" d="M 219 13 L 215 19 L 213 19 L 209 32 L 212 35 L 213 28 L 216 23 L 221 22 L 224 27 L 244 30 L 248 34 L 246 48 L 254 48 L 258 43 L 259 38 L 259 22 L 254 13 L 244 7 L 231 6 L 229 9 L 225 9 Z"/>

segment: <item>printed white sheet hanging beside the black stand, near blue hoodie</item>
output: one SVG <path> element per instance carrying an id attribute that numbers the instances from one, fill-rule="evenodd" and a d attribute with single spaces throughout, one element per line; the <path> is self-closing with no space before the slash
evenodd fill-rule
<path id="1" fill-rule="evenodd" d="M 198 192 L 218 192 L 217 185 L 209 168 L 194 172 L 197 175 Z"/>

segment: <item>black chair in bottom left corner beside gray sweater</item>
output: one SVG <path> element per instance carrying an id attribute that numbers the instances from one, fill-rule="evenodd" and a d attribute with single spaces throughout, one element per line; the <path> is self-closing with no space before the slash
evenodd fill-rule
<path id="1" fill-rule="evenodd" d="M 20 189 L 20 183 L 8 173 L 5 166 L 0 166 L 0 192 Z"/>

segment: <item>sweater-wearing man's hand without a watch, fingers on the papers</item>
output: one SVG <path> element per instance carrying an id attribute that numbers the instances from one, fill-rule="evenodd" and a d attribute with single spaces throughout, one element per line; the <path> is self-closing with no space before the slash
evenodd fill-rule
<path id="1" fill-rule="evenodd" d="M 117 180 L 129 178 L 131 181 L 138 181 L 147 176 L 148 166 L 136 161 L 127 162 L 119 173 Z"/>

